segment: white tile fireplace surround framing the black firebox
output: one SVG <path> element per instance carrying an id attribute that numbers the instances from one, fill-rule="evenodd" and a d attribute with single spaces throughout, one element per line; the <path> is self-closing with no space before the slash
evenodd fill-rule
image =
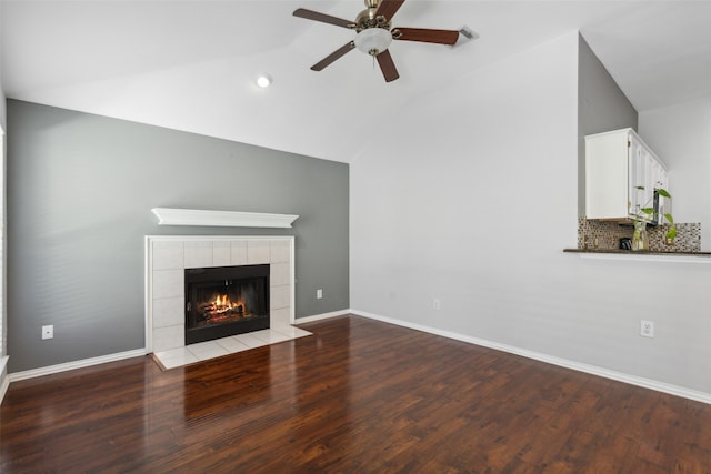
<path id="1" fill-rule="evenodd" d="M 293 239 L 291 235 L 146 236 L 147 351 L 158 355 L 186 347 L 186 269 L 269 264 L 271 327 L 294 334 Z"/>

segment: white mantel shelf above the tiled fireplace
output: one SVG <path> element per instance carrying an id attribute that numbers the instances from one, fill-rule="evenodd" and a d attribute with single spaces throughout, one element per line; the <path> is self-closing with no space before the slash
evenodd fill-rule
<path id="1" fill-rule="evenodd" d="M 158 225 L 198 225 L 222 228 L 291 228 L 299 216 L 258 212 L 203 211 L 198 209 L 153 208 Z"/>

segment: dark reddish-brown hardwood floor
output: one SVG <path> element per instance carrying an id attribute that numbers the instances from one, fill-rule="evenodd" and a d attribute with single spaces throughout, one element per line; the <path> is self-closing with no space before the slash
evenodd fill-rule
<path id="1" fill-rule="evenodd" d="M 711 405 L 343 316 L 14 382 L 2 473 L 710 473 Z"/>

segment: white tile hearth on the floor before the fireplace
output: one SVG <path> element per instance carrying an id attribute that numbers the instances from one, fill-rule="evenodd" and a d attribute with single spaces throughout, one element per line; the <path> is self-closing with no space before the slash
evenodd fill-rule
<path id="1" fill-rule="evenodd" d="M 308 335 L 311 333 L 299 327 L 279 325 L 268 330 L 154 352 L 153 356 L 168 370 Z"/>

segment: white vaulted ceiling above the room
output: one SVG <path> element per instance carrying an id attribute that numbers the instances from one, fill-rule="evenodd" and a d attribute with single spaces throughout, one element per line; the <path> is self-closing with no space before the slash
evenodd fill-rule
<path id="1" fill-rule="evenodd" d="M 395 41 L 385 83 L 354 50 L 359 0 L 2 0 L 9 98 L 349 162 L 399 105 L 501 58 L 580 30 L 639 111 L 711 98 L 711 1 L 408 0 L 394 27 L 480 34 L 453 48 Z M 274 82 L 261 90 L 259 72 Z"/>

